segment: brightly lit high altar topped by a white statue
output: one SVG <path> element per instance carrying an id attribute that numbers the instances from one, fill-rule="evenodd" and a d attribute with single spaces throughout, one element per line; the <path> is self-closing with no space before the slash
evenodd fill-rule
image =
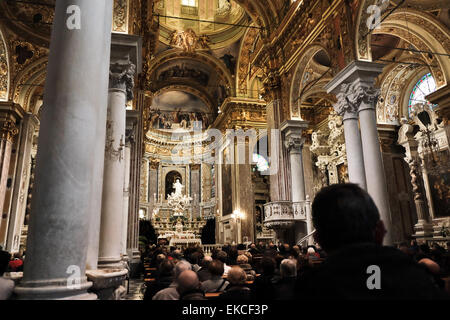
<path id="1" fill-rule="evenodd" d="M 170 246 L 201 245 L 201 230 L 206 224 L 202 217 L 187 216 L 192 198 L 183 194 L 184 186 L 180 180 L 173 184 L 175 189 L 168 198 L 169 215 L 164 215 L 157 208 L 153 212 L 153 227 L 159 240 L 167 240 Z"/>

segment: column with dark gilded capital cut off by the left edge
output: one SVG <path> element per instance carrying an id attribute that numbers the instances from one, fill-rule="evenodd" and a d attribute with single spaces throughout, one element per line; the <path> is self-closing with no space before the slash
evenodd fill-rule
<path id="1" fill-rule="evenodd" d="M 19 123 L 23 117 L 22 108 L 11 102 L 0 103 L 0 245 L 5 246 L 9 224 L 9 201 L 7 201 L 7 181 L 12 159 L 12 148 L 19 133 Z M 11 163 L 12 162 L 12 163 Z M 14 168 L 13 168 L 14 169 Z"/>

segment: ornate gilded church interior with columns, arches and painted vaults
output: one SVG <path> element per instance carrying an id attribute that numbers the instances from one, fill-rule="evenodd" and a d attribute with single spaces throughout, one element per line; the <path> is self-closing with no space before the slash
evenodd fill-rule
<path id="1" fill-rule="evenodd" d="M 449 82 L 446 0 L 0 1 L 0 299 L 155 300 L 184 259 L 253 291 L 324 263 L 348 183 L 450 292 Z"/>

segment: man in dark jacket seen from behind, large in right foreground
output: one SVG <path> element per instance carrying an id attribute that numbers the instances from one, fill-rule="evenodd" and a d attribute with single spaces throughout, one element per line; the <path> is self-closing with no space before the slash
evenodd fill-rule
<path id="1" fill-rule="evenodd" d="M 314 199 L 312 219 L 314 237 L 328 258 L 299 279 L 297 298 L 446 298 L 413 259 L 382 246 L 386 231 L 378 209 L 357 185 L 322 189 Z"/>

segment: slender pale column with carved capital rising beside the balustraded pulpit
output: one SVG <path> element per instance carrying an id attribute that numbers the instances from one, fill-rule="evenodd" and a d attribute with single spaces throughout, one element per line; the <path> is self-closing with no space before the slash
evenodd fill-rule
<path id="1" fill-rule="evenodd" d="M 308 122 L 287 120 L 282 123 L 281 131 L 284 133 L 284 144 L 289 153 L 291 167 L 291 199 L 292 202 L 305 202 L 305 175 L 303 171 L 303 145 L 305 139 L 302 132 L 308 128 Z M 295 222 L 295 242 L 297 243 L 312 230 L 310 221 Z"/>

